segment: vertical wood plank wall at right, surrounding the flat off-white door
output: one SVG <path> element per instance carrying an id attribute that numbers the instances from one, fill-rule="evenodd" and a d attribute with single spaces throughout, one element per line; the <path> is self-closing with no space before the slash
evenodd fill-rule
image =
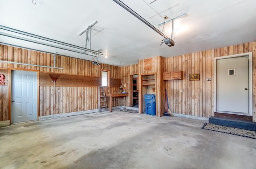
<path id="1" fill-rule="evenodd" d="M 165 82 L 171 111 L 210 117 L 214 111 L 214 58 L 246 52 L 252 52 L 253 56 L 253 115 L 256 121 L 256 42 L 166 58 L 165 72 L 184 72 L 183 80 Z M 200 81 L 189 81 L 189 74 L 193 73 L 200 74 Z M 207 78 L 212 81 L 206 81 Z"/>

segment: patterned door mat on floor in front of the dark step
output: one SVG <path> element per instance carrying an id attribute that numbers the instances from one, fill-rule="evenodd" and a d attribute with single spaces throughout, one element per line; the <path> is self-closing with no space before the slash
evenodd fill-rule
<path id="1" fill-rule="evenodd" d="M 251 131 L 251 130 L 246 130 L 246 129 L 227 127 L 224 125 L 216 125 L 216 124 L 211 124 L 211 123 L 204 123 L 202 129 L 218 131 L 221 133 L 228 133 L 228 134 L 239 135 L 242 137 L 256 139 L 256 131 Z"/>

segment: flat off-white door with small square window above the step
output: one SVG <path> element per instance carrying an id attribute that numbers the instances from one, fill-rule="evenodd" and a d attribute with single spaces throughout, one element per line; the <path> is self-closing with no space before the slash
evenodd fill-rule
<path id="1" fill-rule="evenodd" d="M 216 60 L 216 111 L 249 114 L 249 56 Z"/>

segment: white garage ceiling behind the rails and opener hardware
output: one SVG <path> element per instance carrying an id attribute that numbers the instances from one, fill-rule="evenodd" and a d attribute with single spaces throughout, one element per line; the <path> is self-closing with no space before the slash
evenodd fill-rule
<path id="1" fill-rule="evenodd" d="M 0 25 L 68 44 L 85 47 L 86 35 L 78 34 L 90 24 L 91 49 L 108 54 L 98 61 L 115 66 L 138 60 L 165 58 L 256 41 L 256 0 L 122 0 L 162 32 L 164 16 L 176 18 L 175 46 L 160 46 L 163 37 L 113 0 L 0 0 Z M 166 21 L 168 21 L 167 19 Z M 171 38 L 172 22 L 164 27 Z M 0 29 L 0 32 L 6 32 Z M 92 60 L 92 56 L 22 42 L 0 36 L 12 44 L 60 55 Z M 87 45 L 90 46 L 89 44 Z"/>

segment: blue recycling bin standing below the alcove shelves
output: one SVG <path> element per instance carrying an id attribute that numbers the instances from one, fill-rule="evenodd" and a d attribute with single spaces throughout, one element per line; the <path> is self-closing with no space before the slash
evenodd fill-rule
<path id="1" fill-rule="evenodd" d="M 156 115 L 156 95 L 155 94 L 145 94 L 146 102 L 146 114 Z"/>

